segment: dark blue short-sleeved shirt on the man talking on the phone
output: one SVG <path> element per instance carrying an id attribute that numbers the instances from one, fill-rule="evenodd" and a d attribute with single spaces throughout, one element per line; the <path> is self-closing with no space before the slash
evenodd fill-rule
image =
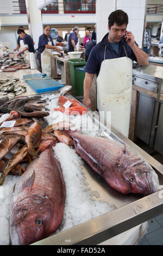
<path id="1" fill-rule="evenodd" d="M 92 48 L 91 53 L 89 55 L 89 59 L 87 60 L 87 63 L 85 66 L 85 72 L 88 72 L 90 74 L 97 74 L 98 76 L 99 70 L 101 68 L 101 64 L 104 60 L 104 54 L 105 54 L 105 59 L 125 57 L 126 53 L 124 51 L 124 47 L 126 49 L 127 56 L 131 60 L 137 61 L 133 50 L 131 50 L 131 47 L 127 44 L 124 38 L 122 38 L 119 43 L 119 50 L 117 53 L 109 43 L 108 35 L 109 33 L 104 36 L 101 42 L 99 42 L 95 47 Z M 105 53 L 105 46 L 106 46 L 106 53 Z"/>

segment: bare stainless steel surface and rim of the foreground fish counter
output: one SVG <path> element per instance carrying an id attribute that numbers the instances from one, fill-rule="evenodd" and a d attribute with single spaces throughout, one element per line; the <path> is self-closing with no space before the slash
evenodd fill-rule
<path id="1" fill-rule="evenodd" d="M 70 94 L 66 94 L 66 96 L 74 99 Z M 87 114 L 92 116 L 90 109 L 87 110 L 89 111 Z M 95 113 L 93 113 L 93 121 L 98 125 L 101 124 L 99 123 L 98 115 Z M 104 131 L 105 138 L 111 138 L 120 143 L 124 142 L 131 150 L 144 157 L 155 168 L 156 173 L 159 175 L 160 185 L 163 185 L 163 166 L 161 163 L 153 159 L 152 156 L 137 147 L 114 128 L 111 127 L 110 132 L 108 128 L 101 124 L 101 129 Z M 100 197 L 98 200 L 114 204 L 116 209 L 70 229 L 60 231 L 60 233 L 33 243 L 33 245 L 97 245 L 156 215 L 162 214 L 163 191 L 158 191 L 149 196 L 140 194 L 125 195 L 113 190 L 87 163 L 83 166 L 83 172 L 91 190 L 99 192 Z"/>

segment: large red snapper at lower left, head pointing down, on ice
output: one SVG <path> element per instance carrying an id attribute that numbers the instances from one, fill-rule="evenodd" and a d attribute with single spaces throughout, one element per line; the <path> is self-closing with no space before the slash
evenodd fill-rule
<path id="1" fill-rule="evenodd" d="M 60 163 L 49 147 L 16 183 L 10 215 L 12 245 L 29 245 L 54 233 L 62 221 L 65 197 Z"/>

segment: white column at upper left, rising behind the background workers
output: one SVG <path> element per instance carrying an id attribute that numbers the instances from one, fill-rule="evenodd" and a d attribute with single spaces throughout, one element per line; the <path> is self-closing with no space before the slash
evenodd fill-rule
<path id="1" fill-rule="evenodd" d="M 43 33 L 41 10 L 37 9 L 37 2 L 26 0 L 29 33 L 35 42 L 35 49 L 38 47 L 39 36 Z"/>

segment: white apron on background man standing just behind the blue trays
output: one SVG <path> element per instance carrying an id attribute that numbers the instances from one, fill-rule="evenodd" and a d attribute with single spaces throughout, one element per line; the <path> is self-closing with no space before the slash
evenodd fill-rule
<path id="1" fill-rule="evenodd" d="M 52 42 L 49 41 L 48 45 L 52 45 Z M 47 74 L 47 76 L 51 76 L 51 57 L 52 57 L 52 52 L 51 49 L 45 49 L 41 53 L 41 67 L 42 67 L 42 73 Z"/>

